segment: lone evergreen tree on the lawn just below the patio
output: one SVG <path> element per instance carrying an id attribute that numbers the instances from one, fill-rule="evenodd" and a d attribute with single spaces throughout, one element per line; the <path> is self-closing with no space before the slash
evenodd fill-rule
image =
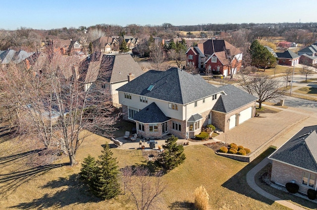
<path id="1" fill-rule="evenodd" d="M 166 170 L 172 170 L 176 168 L 186 159 L 184 147 L 183 145 L 177 145 L 177 139 L 178 138 L 175 136 L 171 136 L 166 139 L 165 145 L 163 145 L 164 152 L 159 154 L 159 159 L 157 161 L 159 165 L 161 165 Z"/>

